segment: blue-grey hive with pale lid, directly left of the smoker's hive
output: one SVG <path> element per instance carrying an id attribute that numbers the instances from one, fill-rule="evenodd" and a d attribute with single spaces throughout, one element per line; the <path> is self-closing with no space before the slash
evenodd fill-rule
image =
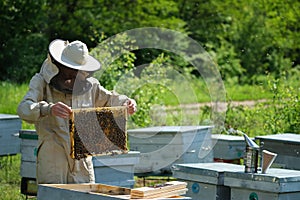
<path id="1" fill-rule="evenodd" d="M 230 187 L 224 186 L 224 172 L 243 169 L 241 165 L 221 162 L 176 164 L 173 177 L 188 183 L 186 196 L 192 199 L 229 200 Z"/>

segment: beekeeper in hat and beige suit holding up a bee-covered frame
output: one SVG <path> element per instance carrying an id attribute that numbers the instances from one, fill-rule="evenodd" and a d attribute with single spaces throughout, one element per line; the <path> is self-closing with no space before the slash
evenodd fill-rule
<path id="1" fill-rule="evenodd" d="M 95 182 L 92 157 L 70 157 L 68 125 L 73 108 L 126 105 L 129 114 L 136 111 L 133 99 L 106 90 L 92 77 L 100 66 L 84 43 L 57 39 L 50 43 L 40 72 L 32 77 L 18 115 L 35 124 L 39 136 L 39 184 Z"/>

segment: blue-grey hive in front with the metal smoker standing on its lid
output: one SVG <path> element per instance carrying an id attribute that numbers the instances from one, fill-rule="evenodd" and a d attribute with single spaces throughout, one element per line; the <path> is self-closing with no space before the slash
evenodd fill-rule
<path id="1" fill-rule="evenodd" d="M 300 171 L 270 168 L 266 174 L 225 172 L 224 185 L 231 188 L 231 200 L 300 199 Z"/>

